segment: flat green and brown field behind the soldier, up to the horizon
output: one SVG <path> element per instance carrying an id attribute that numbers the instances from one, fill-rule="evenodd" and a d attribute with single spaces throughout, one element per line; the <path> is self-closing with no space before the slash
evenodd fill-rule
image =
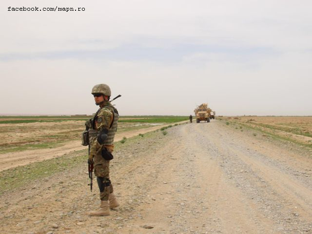
<path id="1" fill-rule="evenodd" d="M 0 116 L 0 154 L 29 149 L 54 148 L 80 140 L 84 122 L 92 116 Z M 117 133 L 139 130 L 155 124 L 187 120 L 180 116 L 120 117 Z"/>

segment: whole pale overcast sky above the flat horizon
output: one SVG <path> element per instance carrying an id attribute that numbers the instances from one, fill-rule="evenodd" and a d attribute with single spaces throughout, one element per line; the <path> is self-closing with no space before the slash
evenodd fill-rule
<path id="1" fill-rule="evenodd" d="M 311 0 L 1 0 L 0 7 L 2 115 L 92 114 L 98 83 L 122 95 L 114 101 L 121 116 L 190 115 L 203 102 L 216 115 L 312 115 Z"/>

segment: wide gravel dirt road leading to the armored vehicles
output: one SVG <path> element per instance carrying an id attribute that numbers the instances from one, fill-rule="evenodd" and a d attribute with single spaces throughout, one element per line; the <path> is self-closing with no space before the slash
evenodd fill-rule
<path id="1" fill-rule="evenodd" d="M 116 150 L 110 216 L 86 214 L 98 191 L 81 165 L 2 195 L 1 233 L 312 234 L 309 153 L 217 120 L 166 131 Z"/>

